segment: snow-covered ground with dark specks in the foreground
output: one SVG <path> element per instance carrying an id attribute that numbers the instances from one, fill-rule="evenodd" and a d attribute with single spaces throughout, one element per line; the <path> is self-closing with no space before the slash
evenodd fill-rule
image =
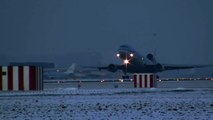
<path id="1" fill-rule="evenodd" d="M 52 89 L 0 92 L 0 120 L 212 120 L 213 89 Z"/>

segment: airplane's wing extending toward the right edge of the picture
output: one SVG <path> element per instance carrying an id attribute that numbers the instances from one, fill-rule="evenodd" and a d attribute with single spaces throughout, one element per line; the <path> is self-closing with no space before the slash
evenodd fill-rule
<path id="1" fill-rule="evenodd" d="M 177 70 L 177 69 L 191 69 L 191 68 L 202 68 L 210 67 L 212 65 L 172 65 L 172 64 L 163 64 L 164 70 Z"/>

